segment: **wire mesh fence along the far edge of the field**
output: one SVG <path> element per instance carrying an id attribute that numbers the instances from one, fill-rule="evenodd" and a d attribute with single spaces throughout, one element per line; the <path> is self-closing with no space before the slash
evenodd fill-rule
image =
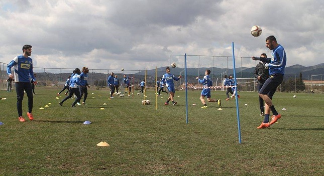
<path id="1" fill-rule="evenodd" d="M 7 75 L 7 63 L 0 62 L 0 90 L 7 90 L 7 82 L 8 79 Z M 13 69 L 13 68 L 12 68 Z M 68 76 L 70 76 L 73 72 L 74 68 L 39 68 L 34 67 L 34 73 L 36 73 L 36 78 L 38 85 L 37 86 L 51 86 L 55 87 L 57 89 L 61 89 Z M 162 68 L 159 68 L 156 70 L 158 75 L 158 80 L 162 77 L 165 73 L 165 70 Z M 12 70 L 13 72 L 13 70 Z M 123 75 L 126 74 L 129 77 L 134 77 L 133 80 L 131 80 L 131 84 L 134 84 L 135 89 L 137 90 L 140 82 L 145 79 L 146 76 L 146 85 L 147 87 L 154 87 L 156 84 L 155 80 L 155 69 L 153 70 L 114 70 L 114 69 L 89 69 L 88 73 L 88 84 L 91 85 L 91 89 L 107 89 L 106 88 L 106 80 L 110 76 L 110 73 L 114 72 L 115 75 L 118 76 L 120 80 L 121 87 L 123 87 Z M 242 72 L 242 71 L 241 71 Z M 176 76 L 184 74 L 183 70 L 179 73 L 173 73 Z M 221 74 L 212 74 L 212 81 L 214 85 L 216 86 L 222 86 L 223 84 L 223 76 L 227 74 L 227 72 L 221 73 Z M 245 76 L 245 78 L 242 78 L 242 75 Z M 188 84 L 197 84 L 197 80 L 195 79 L 197 75 L 188 75 L 187 76 L 187 82 Z M 200 74 L 200 76 L 203 76 L 203 73 Z M 241 76 L 241 77 L 240 77 Z M 237 82 L 239 83 L 238 89 L 240 91 L 257 91 L 257 83 L 256 79 L 253 79 L 253 74 L 249 75 L 250 77 L 247 78 L 246 74 L 238 74 L 239 79 Z M 322 80 L 323 75 L 315 75 L 315 74 L 303 74 L 303 82 L 305 84 L 305 90 L 298 91 L 298 84 L 297 80 L 299 79 L 299 74 L 285 74 L 285 80 L 287 79 L 294 79 L 294 82 L 291 84 L 290 92 L 307 92 L 307 93 L 323 93 L 324 92 L 324 82 Z M 175 81 L 175 87 L 183 87 L 184 85 L 184 77 L 181 78 L 179 81 Z M 15 84 L 13 85 L 13 89 L 15 89 Z M 224 89 L 217 89 L 217 90 L 224 90 Z M 280 91 L 281 88 L 279 87 L 278 90 Z M 313 91 L 312 91 L 313 90 Z"/>

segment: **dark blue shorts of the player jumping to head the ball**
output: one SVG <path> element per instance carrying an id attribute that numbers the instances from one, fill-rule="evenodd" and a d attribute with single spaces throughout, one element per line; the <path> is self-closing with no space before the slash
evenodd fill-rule
<path id="1" fill-rule="evenodd" d="M 277 87 L 283 81 L 283 74 L 272 74 L 269 78 L 264 82 L 263 86 L 261 87 L 259 94 L 266 94 L 272 99 L 273 94 L 276 92 Z"/>

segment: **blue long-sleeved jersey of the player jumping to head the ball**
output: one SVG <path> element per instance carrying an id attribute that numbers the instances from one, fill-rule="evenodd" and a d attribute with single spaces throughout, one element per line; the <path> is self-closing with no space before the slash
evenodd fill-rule
<path id="1" fill-rule="evenodd" d="M 286 67 L 286 52 L 285 49 L 278 45 L 276 48 L 273 49 L 271 58 L 259 58 L 260 61 L 269 64 L 269 74 L 285 74 L 285 67 Z"/>

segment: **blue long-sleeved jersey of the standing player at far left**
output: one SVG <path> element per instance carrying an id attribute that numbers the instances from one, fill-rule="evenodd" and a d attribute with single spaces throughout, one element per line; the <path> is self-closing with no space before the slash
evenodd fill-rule
<path id="1" fill-rule="evenodd" d="M 33 59 L 25 58 L 23 55 L 15 57 L 7 66 L 7 74 L 10 75 L 11 68 L 15 68 L 15 82 L 30 82 L 29 78 L 35 82 L 33 72 Z"/>

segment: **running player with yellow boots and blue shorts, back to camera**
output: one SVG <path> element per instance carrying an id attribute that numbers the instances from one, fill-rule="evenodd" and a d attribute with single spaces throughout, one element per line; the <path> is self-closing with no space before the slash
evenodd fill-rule
<path id="1" fill-rule="evenodd" d="M 205 71 L 205 76 L 203 79 L 199 79 L 198 77 L 196 78 L 200 84 L 202 84 L 202 91 L 200 94 L 200 101 L 203 104 L 201 108 L 207 108 L 207 104 L 205 101 L 205 97 L 207 97 L 208 102 L 217 102 L 219 106 L 221 106 L 221 100 L 216 100 L 216 99 L 210 99 L 210 86 L 212 86 L 212 81 L 209 77 L 210 70 Z"/>

